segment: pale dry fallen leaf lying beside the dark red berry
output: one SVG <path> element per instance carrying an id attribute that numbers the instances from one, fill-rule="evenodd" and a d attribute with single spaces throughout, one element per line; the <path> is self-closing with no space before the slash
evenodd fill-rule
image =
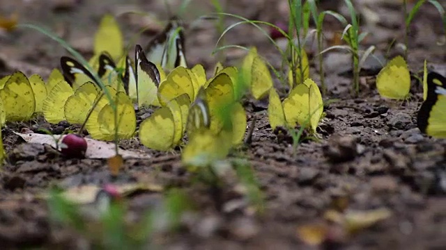
<path id="1" fill-rule="evenodd" d="M 15 133 L 15 132 L 14 132 Z M 19 135 L 23 140 L 29 143 L 40 143 L 40 144 L 49 144 L 51 147 L 56 147 L 56 141 L 59 140 L 61 135 L 43 135 L 38 133 L 15 133 Z M 62 135 L 65 136 L 65 135 Z M 95 158 L 95 159 L 107 159 L 113 156 L 116 156 L 115 144 L 112 142 L 102 142 L 98 140 L 93 140 L 90 138 L 85 138 L 87 143 L 87 149 L 85 152 L 86 158 Z M 59 140 L 61 141 L 61 140 Z M 131 151 L 118 149 L 118 153 L 122 156 L 122 158 L 137 158 L 137 159 L 149 159 L 150 155 L 147 153 L 142 153 L 139 151 Z"/>

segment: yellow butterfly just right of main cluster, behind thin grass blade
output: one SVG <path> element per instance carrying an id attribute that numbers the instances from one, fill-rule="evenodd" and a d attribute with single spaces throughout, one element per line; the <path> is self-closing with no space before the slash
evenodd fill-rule
<path id="1" fill-rule="evenodd" d="M 272 88 L 271 74 L 255 47 L 250 49 L 243 59 L 242 72 L 255 99 L 261 99 L 268 94 Z"/>

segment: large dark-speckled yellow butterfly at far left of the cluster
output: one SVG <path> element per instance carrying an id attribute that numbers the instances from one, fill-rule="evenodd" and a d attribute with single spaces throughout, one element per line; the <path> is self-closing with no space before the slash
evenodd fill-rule
<path id="1" fill-rule="evenodd" d="M 31 119 L 36 110 L 36 99 L 28 78 L 22 72 L 15 72 L 0 90 L 6 121 L 21 122 Z"/>

